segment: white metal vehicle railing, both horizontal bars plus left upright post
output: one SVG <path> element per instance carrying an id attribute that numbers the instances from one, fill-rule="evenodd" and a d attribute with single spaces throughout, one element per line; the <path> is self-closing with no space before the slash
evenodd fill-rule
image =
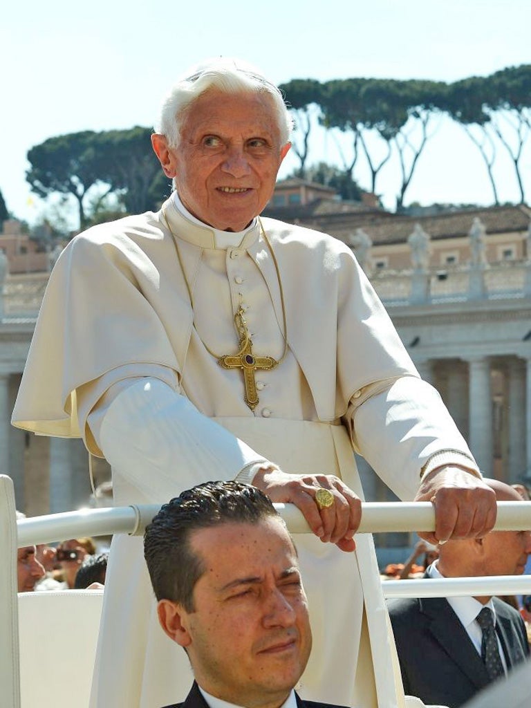
<path id="1" fill-rule="evenodd" d="M 275 504 L 293 533 L 309 532 L 302 513 L 291 504 Z M 4 695 L 13 696 L 10 708 L 19 708 L 18 605 L 16 597 L 16 547 L 60 541 L 85 535 L 127 533 L 142 535 L 159 510 L 158 505 L 100 508 L 39 516 L 16 521 L 13 482 L 0 475 L 0 685 Z M 430 531 L 435 527 L 431 503 L 363 503 L 359 533 Z M 9 529 L 11 528 L 11 533 Z M 531 502 L 498 502 L 497 530 L 531 529 Z M 384 595 L 433 597 L 441 595 L 531 594 L 531 576 L 489 578 L 442 578 L 412 581 L 384 581 Z M 9 631 L 5 631 L 10 627 Z"/>

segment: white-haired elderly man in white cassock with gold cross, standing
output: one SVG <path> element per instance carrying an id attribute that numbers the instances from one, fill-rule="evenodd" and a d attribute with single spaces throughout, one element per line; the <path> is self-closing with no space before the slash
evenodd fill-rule
<path id="1" fill-rule="evenodd" d="M 178 81 L 152 136 L 175 190 L 64 249 L 13 423 L 82 436 L 117 505 L 210 479 L 297 505 L 314 532 L 296 537 L 314 628 L 299 692 L 391 708 L 404 697 L 372 539 L 353 539 L 353 450 L 400 498 L 433 500 L 431 542 L 484 535 L 495 496 L 352 251 L 259 217 L 290 128 L 280 91 L 241 62 Z M 183 700 L 191 673 L 158 625 L 142 539 L 110 556 L 92 707 Z"/>

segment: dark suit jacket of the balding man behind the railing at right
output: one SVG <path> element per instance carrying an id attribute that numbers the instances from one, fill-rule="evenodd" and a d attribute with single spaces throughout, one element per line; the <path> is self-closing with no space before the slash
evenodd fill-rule
<path id="1" fill-rule="evenodd" d="M 529 654 L 525 624 L 507 603 L 493 603 L 496 632 L 512 668 Z M 395 598 L 388 606 L 406 695 L 457 708 L 489 683 L 481 656 L 445 598 Z"/>

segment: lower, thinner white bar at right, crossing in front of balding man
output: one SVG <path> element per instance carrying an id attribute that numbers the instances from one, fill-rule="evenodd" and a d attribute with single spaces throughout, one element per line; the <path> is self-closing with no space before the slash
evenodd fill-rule
<path id="1" fill-rule="evenodd" d="M 464 595 L 531 595 L 531 576 L 418 578 L 382 581 L 386 598 L 457 598 Z"/>

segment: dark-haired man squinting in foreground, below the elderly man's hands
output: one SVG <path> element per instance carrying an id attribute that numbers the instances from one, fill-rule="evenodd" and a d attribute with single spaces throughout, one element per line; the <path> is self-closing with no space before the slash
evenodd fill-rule
<path id="1" fill-rule="evenodd" d="M 184 708 L 310 708 L 294 687 L 312 649 L 297 552 L 270 499 L 207 482 L 164 505 L 144 537 L 164 632 L 188 654 Z"/>

